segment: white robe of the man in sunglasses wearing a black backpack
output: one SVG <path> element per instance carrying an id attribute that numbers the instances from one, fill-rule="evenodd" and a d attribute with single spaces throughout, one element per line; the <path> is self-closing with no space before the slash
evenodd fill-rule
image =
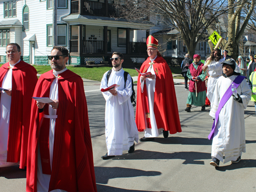
<path id="1" fill-rule="evenodd" d="M 134 118 L 134 109 L 131 102 L 132 77 L 128 74 L 124 88 L 123 69 L 115 71 L 112 69 L 107 84 L 106 72 L 101 80 L 100 89 L 105 89 L 112 84 L 118 84 L 117 96 L 109 91 L 102 92 L 105 100 L 105 136 L 108 155 L 122 155 L 129 147 L 138 143 L 139 135 Z"/>

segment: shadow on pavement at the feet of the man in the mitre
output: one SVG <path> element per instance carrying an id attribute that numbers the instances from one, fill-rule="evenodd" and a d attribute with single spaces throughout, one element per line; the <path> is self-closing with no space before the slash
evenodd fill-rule
<path id="1" fill-rule="evenodd" d="M 161 144 L 183 144 L 183 145 L 211 145 L 212 141 L 207 138 L 168 137 L 155 138 L 154 141 Z"/>

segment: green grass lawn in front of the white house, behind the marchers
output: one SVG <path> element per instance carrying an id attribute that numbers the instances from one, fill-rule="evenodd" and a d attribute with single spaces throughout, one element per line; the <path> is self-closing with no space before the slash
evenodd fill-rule
<path id="1" fill-rule="evenodd" d="M 2 65 L 0 65 L 2 66 Z M 43 74 L 47 71 L 51 70 L 50 66 L 33 66 L 37 73 L 39 74 Z M 67 66 L 67 68 L 71 71 L 73 71 L 74 73 L 80 75 L 82 78 L 85 79 L 90 79 L 90 80 L 95 80 L 95 81 L 101 81 L 103 74 L 106 71 L 109 71 L 111 69 L 111 67 L 93 67 L 93 68 L 86 68 L 86 67 L 74 67 L 74 66 Z M 180 68 L 174 68 L 171 67 L 170 70 L 172 71 L 173 74 L 180 74 L 181 69 Z M 135 69 L 126 69 L 124 68 L 124 71 L 127 71 L 128 73 L 130 73 L 130 75 L 132 77 L 134 76 L 138 76 L 138 73 Z M 174 77 L 176 78 L 176 77 Z M 179 78 L 179 76 L 178 76 Z M 183 77 L 181 77 L 183 78 Z"/>

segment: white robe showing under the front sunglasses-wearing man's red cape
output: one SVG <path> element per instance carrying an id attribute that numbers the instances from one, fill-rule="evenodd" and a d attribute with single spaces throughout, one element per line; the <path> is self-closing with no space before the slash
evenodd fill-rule
<path id="1" fill-rule="evenodd" d="M 58 74 L 63 73 L 66 71 L 67 68 L 61 71 L 53 70 L 53 75 L 57 77 Z M 55 78 L 50 87 L 50 96 L 51 100 L 58 100 L 58 78 Z M 56 116 L 57 110 L 52 109 L 52 106 L 49 104 L 49 117 Z M 45 117 L 44 117 L 45 118 Z M 49 125 L 49 152 L 50 152 L 50 164 L 52 168 L 52 158 L 53 158 L 53 145 L 54 145 L 54 133 L 55 133 L 55 123 L 56 118 L 50 118 L 50 125 Z M 43 174 L 42 173 L 42 166 L 41 166 L 41 156 L 40 156 L 40 146 L 38 142 L 38 158 L 37 158 L 37 192 L 45 192 L 49 189 L 51 175 Z M 51 192 L 67 192 L 66 190 L 55 189 L 51 190 Z"/>

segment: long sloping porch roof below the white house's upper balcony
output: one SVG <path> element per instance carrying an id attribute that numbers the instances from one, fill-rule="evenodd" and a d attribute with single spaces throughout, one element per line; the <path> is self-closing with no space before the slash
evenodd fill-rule
<path id="1" fill-rule="evenodd" d="M 152 22 L 146 20 L 141 20 L 138 22 L 129 22 L 129 20 L 124 18 L 113 18 L 113 17 L 102 17 L 102 16 L 92 16 L 92 15 L 80 15 L 80 14 L 70 14 L 62 18 L 64 22 L 71 25 L 94 25 L 94 26 L 108 26 L 108 27 L 124 27 L 133 29 L 149 29 L 154 26 Z"/>

